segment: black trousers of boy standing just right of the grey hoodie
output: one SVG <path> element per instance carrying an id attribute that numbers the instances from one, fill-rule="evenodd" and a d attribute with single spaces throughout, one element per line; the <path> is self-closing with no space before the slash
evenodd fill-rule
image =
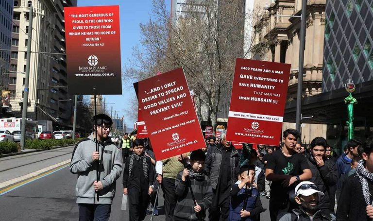
<path id="1" fill-rule="evenodd" d="M 129 221 L 142 221 L 145 219 L 149 200 L 147 189 L 139 192 L 136 188 L 128 188 Z"/>

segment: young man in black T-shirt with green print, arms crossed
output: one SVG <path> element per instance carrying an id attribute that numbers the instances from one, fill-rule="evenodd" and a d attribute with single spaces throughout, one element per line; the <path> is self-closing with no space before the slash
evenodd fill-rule
<path id="1" fill-rule="evenodd" d="M 294 194 L 297 182 L 312 178 L 307 159 L 294 151 L 300 134 L 288 129 L 283 133 L 284 147 L 271 155 L 266 167 L 266 178 L 272 181 L 270 198 L 271 221 L 276 221 L 281 212 L 291 211 L 289 193 Z"/>

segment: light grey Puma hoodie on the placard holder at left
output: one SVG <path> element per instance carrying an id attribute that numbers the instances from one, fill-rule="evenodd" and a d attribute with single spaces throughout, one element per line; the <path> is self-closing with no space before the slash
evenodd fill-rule
<path id="1" fill-rule="evenodd" d="M 116 180 L 122 172 L 121 153 L 117 146 L 110 141 L 99 142 L 98 147 L 100 153 L 99 180 L 103 187 L 98 191 L 99 202 L 97 202 L 97 194 L 95 194 L 93 187 L 97 171 L 97 163 L 92 159 L 92 153 L 96 150 L 93 135 L 91 134 L 80 141 L 72 153 L 70 171 L 78 174 L 75 188 L 76 203 L 78 204 L 112 204 L 115 196 Z"/>

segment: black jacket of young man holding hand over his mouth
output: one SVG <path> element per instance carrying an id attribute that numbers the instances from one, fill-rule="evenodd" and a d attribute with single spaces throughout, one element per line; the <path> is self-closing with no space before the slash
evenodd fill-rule
<path id="1" fill-rule="evenodd" d="M 337 166 L 332 160 L 324 161 L 324 166 L 318 167 L 314 158 L 308 156 L 308 165 L 312 172 L 312 178 L 309 180 L 316 184 L 324 195 L 320 198 L 319 208 L 324 215 L 330 216 L 330 199 L 328 194 L 328 187 L 334 186 L 338 182 Z"/>

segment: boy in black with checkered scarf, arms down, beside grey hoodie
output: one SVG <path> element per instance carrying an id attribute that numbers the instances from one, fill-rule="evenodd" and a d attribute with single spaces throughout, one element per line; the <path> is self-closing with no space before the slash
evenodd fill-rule
<path id="1" fill-rule="evenodd" d="M 142 221 L 153 192 L 154 171 L 152 161 L 144 152 L 144 141 L 132 143 L 134 154 L 126 159 L 123 172 L 123 193 L 128 195 L 129 220 Z"/>

